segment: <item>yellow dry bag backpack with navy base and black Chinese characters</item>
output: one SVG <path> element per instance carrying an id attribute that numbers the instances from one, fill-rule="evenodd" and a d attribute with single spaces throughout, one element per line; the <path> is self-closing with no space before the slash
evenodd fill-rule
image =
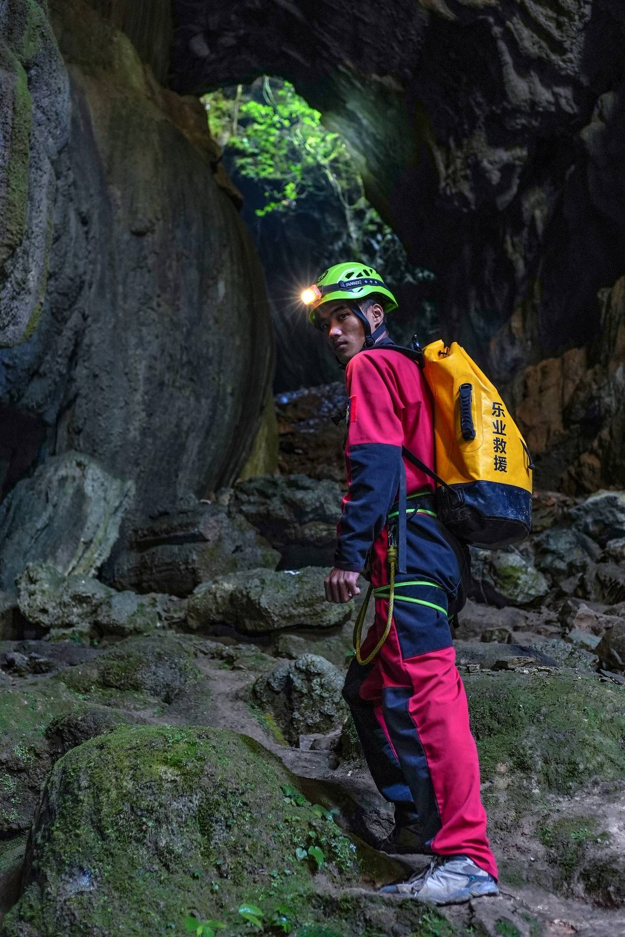
<path id="1" fill-rule="evenodd" d="M 497 389 L 455 342 L 408 354 L 434 397 L 435 469 L 406 458 L 439 485 L 439 519 L 456 537 L 485 549 L 519 543 L 531 530 L 532 469 L 525 440 Z"/>

